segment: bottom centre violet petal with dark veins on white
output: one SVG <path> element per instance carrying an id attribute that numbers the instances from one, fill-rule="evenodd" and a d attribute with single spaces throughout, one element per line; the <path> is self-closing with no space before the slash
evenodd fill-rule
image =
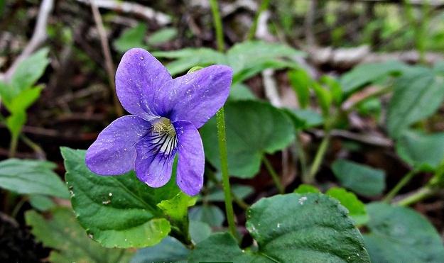
<path id="1" fill-rule="evenodd" d="M 170 181 L 176 150 L 166 146 L 172 145 L 170 140 L 148 134 L 136 144 L 136 176 L 148 186 L 161 187 Z"/>

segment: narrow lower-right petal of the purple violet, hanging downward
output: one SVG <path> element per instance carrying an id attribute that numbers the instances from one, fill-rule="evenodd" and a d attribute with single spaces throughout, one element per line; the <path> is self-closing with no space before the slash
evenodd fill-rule
<path id="1" fill-rule="evenodd" d="M 195 196 L 202 189 L 205 156 L 199 132 L 188 121 L 173 123 L 178 137 L 177 184 L 182 191 Z"/>

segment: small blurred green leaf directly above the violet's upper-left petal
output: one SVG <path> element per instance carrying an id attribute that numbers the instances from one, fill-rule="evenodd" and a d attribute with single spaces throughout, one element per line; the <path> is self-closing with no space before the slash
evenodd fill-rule
<path id="1" fill-rule="evenodd" d="M 146 24 L 139 23 L 134 28 L 124 31 L 117 40 L 114 40 L 114 48 L 119 52 L 126 52 L 133 47 L 142 47 L 147 49 L 148 46 L 144 43 L 146 35 Z"/>

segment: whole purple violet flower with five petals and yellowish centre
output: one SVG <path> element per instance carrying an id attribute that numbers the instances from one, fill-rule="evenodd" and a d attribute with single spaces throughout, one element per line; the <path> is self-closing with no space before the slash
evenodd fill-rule
<path id="1" fill-rule="evenodd" d="M 151 187 L 165 185 L 178 153 L 176 183 L 194 196 L 202 188 L 205 157 L 197 131 L 224 105 L 232 69 L 205 67 L 175 79 L 148 51 L 134 48 L 116 72 L 117 96 L 132 115 L 102 130 L 86 154 L 87 167 L 99 175 L 135 170 Z"/>

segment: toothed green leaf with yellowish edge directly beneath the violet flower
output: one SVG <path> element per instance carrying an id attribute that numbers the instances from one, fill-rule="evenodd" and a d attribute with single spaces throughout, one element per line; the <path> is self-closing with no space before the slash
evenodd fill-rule
<path id="1" fill-rule="evenodd" d="M 170 223 L 156 204 L 180 191 L 175 181 L 153 189 L 134 172 L 101 177 L 85 165 L 85 151 L 62 149 L 71 203 L 80 224 L 104 247 L 156 245 L 170 232 Z"/>

